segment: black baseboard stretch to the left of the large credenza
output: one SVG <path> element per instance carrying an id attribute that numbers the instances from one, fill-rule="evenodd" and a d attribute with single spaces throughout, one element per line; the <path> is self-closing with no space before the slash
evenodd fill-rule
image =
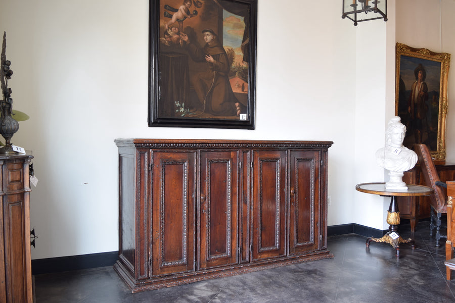
<path id="1" fill-rule="evenodd" d="M 49 274 L 103 266 L 112 266 L 118 259 L 118 251 L 99 252 L 79 256 L 32 260 L 32 274 Z"/>

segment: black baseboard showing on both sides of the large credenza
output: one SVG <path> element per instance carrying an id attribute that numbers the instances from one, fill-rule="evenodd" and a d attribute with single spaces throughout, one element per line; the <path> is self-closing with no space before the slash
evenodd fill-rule
<path id="1" fill-rule="evenodd" d="M 345 235 L 349 233 L 359 234 L 366 237 L 382 237 L 388 230 L 379 230 L 371 227 L 351 223 L 333 225 L 327 228 L 328 236 Z M 99 252 L 79 256 L 68 256 L 47 259 L 32 260 L 32 274 L 49 274 L 71 270 L 112 266 L 118 259 L 118 251 Z"/>

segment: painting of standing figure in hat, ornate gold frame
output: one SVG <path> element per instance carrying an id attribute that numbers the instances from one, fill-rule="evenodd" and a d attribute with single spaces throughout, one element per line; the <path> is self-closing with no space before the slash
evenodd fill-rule
<path id="1" fill-rule="evenodd" d="M 403 145 L 424 143 L 445 162 L 447 75 L 450 54 L 396 43 L 395 115 L 406 126 Z"/>

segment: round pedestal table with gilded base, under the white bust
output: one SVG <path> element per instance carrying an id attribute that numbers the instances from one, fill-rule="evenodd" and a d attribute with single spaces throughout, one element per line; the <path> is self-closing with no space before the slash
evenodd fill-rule
<path id="1" fill-rule="evenodd" d="M 390 190 L 385 188 L 385 183 L 361 183 L 355 186 L 357 191 L 379 194 L 381 196 L 391 197 L 389 210 L 387 211 L 387 223 L 389 224 L 389 231 L 382 238 L 368 238 L 367 247 L 370 247 L 370 242 L 386 242 L 392 245 L 396 250 L 396 258 L 400 257 L 399 243 L 410 243 L 413 249 L 416 247 L 414 243 L 414 232 L 412 238 L 404 240 L 398 234 L 398 225 L 400 224 L 400 212 L 398 210 L 397 196 L 425 196 L 431 195 L 433 189 L 428 186 L 406 184 L 407 190 Z"/>

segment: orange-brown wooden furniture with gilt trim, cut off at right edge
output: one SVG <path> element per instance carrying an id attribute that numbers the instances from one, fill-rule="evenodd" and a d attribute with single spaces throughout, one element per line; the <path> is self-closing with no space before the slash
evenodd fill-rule
<path id="1" fill-rule="evenodd" d="M 451 270 L 455 270 L 455 259 L 453 259 L 453 248 L 455 247 L 455 181 L 447 181 L 447 241 L 445 242 L 445 266 L 447 280 L 450 281 Z"/>

